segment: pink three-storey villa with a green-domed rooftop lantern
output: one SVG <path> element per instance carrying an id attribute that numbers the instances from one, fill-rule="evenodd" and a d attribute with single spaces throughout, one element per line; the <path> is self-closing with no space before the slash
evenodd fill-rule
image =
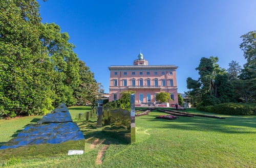
<path id="1" fill-rule="evenodd" d="M 157 102 L 156 94 L 167 92 L 173 101 L 163 103 L 178 103 L 178 88 L 176 80 L 176 69 L 174 65 L 148 65 L 142 53 L 133 65 L 110 66 L 110 97 L 109 100 L 117 100 L 121 92 L 126 90 L 136 91 L 136 105 L 145 105 Z"/>

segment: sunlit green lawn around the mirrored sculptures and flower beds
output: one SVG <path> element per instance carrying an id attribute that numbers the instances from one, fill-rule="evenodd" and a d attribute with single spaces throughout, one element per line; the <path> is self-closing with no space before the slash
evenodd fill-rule
<path id="1" fill-rule="evenodd" d="M 89 109 L 90 107 L 75 106 L 70 107 L 70 112 L 75 118 Z M 196 109 L 187 109 L 186 112 L 216 115 L 226 119 L 179 117 L 177 120 L 162 120 L 155 117 L 164 113 L 152 111 L 150 115 L 136 117 L 136 143 L 133 145 L 115 141 L 111 144 L 112 139 L 107 135 L 97 136 L 109 140 L 105 142 L 111 144 L 100 165 L 96 165 L 95 160 L 100 147 L 106 143 L 90 150 L 90 143 L 86 142 L 85 153 L 79 156 L 61 154 L 26 158 L 18 155 L 2 162 L 15 167 L 255 167 L 256 116 L 217 115 Z M 39 118 L 41 116 L 0 120 L 0 144 L 9 141 L 18 130 Z M 78 122 L 78 125 L 84 130 L 82 122 Z M 86 138 L 89 137 L 87 130 L 84 130 L 84 134 Z M 49 144 L 37 147 L 44 153 L 47 146 L 52 149 L 61 147 Z M 68 150 L 69 146 L 71 144 L 67 142 L 65 149 Z M 0 156 L 4 156 L 1 151 Z"/>

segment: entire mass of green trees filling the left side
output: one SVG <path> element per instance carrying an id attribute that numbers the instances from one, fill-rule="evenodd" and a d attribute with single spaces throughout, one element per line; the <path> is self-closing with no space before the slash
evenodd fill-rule
<path id="1" fill-rule="evenodd" d="M 68 33 L 40 22 L 35 0 L 0 1 L 0 10 L 0 117 L 94 101 L 89 97 L 98 95 L 99 83 L 73 52 Z"/>

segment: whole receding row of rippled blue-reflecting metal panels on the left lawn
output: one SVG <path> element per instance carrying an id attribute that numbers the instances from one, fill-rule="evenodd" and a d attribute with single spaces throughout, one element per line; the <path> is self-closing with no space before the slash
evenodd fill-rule
<path id="1" fill-rule="evenodd" d="M 60 104 L 56 109 L 67 108 Z M 36 144 L 59 144 L 70 140 L 84 139 L 77 124 L 72 122 L 69 111 L 47 114 L 37 124 L 27 126 L 0 149 L 17 148 Z M 76 143 L 76 142 L 74 142 Z"/>

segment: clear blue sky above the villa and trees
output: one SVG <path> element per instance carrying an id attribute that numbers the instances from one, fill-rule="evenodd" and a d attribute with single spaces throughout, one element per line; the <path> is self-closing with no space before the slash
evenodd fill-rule
<path id="1" fill-rule="evenodd" d="M 80 60 L 109 92 L 111 65 L 132 65 L 140 49 L 150 65 L 177 65 L 178 92 L 198 78 L 202 57 L 245 63 L 240 36 L 256 30 L 256 1 L 38 0 L 42 22 L 68 32 Z"/>

